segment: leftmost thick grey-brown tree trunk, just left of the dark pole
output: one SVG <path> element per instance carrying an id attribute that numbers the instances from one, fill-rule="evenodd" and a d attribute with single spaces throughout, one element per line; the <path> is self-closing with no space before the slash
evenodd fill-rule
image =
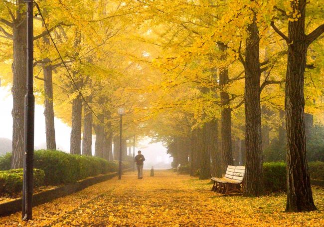
<path id="1" fill-rule="evenodd" d="M 26 94 L 26 26 L 25 4 L 17 1 L 16 21 L 13 25 L 13 63 L 12 63 L 12 158 L 11 169 L 23 167 L 24 138 L 24 97 Z M 19 25 L 18 25 L 19 24 Z"/>

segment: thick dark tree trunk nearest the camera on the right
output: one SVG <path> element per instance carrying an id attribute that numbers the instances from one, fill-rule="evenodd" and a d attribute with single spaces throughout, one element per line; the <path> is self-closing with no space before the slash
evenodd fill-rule
<path id="1" fill-rule="evenodd" d="M 289 21 L 288 64 L 286 74 L 287 127 L 287 212 L 315 211 L 306 156 L 304 119 L 304 72 L 307 43 L 305 41 L 306 0 L 292 1 L 300 13 L 297 21 Z"/>

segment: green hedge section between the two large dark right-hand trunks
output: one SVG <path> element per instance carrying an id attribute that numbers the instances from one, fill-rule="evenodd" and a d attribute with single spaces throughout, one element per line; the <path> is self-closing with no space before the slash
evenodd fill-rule
<path id="1" fill-rule="evenodd" d="M 285 192 L 286 164 L 284 162 L 263 163 L 264 189 L 266 192 Z"/>

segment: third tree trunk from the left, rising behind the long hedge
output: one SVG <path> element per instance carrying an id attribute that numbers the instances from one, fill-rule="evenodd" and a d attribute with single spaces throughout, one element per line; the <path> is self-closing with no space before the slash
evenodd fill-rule
<path id="1" fill-rule="evenodd" d="M 82 100 L 77 96 L 72 101 L 72 125 L 70 154 L 81 155 Z"/>

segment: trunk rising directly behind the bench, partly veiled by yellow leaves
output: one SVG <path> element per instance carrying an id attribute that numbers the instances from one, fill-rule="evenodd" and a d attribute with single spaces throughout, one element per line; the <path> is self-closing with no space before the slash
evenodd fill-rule
<path id="1" fill-rule="evenodd" d="M 226 46 L 224 43 L 218 44 L 219 50 L 225 51 Z M 226 56 L 223 54 L 222 59 Z M 225 171 L 228 165 L 233 165 L 232 155 L 232 131 L 231 131 L 231 108 L 229 95 L 224 90 L 228 85 L 228 68 L 220 67 L 219 69 L 219 85 L 221 87 L 220 100 L 221 100 L 221 143 L 222 143 L 222 157 L 223 157 L 223 170 Z"/>

